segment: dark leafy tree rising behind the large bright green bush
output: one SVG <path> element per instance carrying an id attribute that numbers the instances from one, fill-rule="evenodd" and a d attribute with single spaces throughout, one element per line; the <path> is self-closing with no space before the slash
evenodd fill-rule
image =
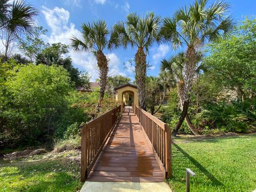
<path id="1" fill-rule="evenodd" d="M 36 65 L 44 64 L 47 66 L 57 65 L 68 70 L 71 82 L 76 86 L 89 84 L 88 74 L 79 73 L 77 68 L 72 65 L 72 59 L 65 57 L 68 53 L 68 45 L 62 43 L 53 43 L 51 46 L 46 46 L 36 57 Z"/>

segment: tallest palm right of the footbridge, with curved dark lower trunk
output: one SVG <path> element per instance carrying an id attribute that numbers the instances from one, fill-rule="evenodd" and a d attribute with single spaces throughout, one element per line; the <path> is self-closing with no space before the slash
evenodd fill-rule
<path id="1" fill-rule="evenodd" d="M 186 47 L 185 82 L 182 113 L 172 132 L 176 135 L 184 121 L 188 106 L 189 93 L 193 85 L 196 67 L 196 50 L 206 42 L 216 41 L 219 37 L 233 34 L 235 22 L 226 13 L 229 5 L 217 1 L 207 7 L 209 0 L 196 0 L 188 8 L 182 7 L 174 13 L 173 18 L 165 18 L 161 35 L 167 42 L 172 42 L 173 48 Z"/>

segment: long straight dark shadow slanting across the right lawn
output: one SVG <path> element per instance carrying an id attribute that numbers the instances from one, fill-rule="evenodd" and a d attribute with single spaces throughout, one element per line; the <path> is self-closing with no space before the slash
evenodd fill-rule
<path id="1" fill-rule="evenodd" d="M 203 172 L 206 177 L 211 180 L 212 184 L 215 186 L 223 186 L 223 183 L 220 182 L 217 178 L 215 178 L 209 171 L 207 171 L 200 163 L 196 161 L 193 157 L 188 155 L 185 150 L 181 149 L 177 144 L 172 143 L 173 146 L 175 146 L 185 157 L 189 159 L 190 162 L 192 162 L 201 172 Z"/>

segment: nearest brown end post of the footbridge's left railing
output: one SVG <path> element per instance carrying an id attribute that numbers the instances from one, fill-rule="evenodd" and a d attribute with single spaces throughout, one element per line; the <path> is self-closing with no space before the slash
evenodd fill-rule
<path id="1" fill-rule="evenodd" d="M 87 130 L 86 124 L 82 127 L 81 132 L 81 181 L 84 182 L 87 178 Z"/>

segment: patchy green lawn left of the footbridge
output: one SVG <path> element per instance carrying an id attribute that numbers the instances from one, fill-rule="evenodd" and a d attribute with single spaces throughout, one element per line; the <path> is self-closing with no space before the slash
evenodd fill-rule
<path id="1" fill-rule="evenodd" d="M 77 162 L 69 158 L 74 155 L 76 151 L 0 161 L 0 191 L 77 191 L 82 183 Z"/>

